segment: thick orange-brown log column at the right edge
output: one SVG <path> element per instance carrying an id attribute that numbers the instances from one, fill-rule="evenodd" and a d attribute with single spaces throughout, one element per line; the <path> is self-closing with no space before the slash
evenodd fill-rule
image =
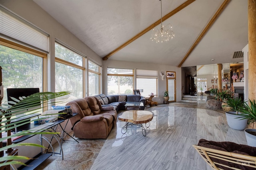
<path id="1" fill-rule="evenodd" d="M 248 0 L 249 99 L 256 99 L 256 0 Z"/>

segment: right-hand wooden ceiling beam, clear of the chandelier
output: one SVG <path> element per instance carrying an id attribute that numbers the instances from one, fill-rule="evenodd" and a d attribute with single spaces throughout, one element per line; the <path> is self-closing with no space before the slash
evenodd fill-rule
<path id="1" fill-rule="evenodd" d="M 194 42 L 194 44 L 192 45 L 192 47 L 188 50 L 188 53 L 185 55 L 185 57 L 182 59 L 182 61 L 180 62 L 180 64 L 178 65 L 178 67 L 181 67 L 182 64 L 186 61 L 186 59 L 188 58 L 188 56 L 190 55 L 190 53 L 192 53 L 192 51 L 194 50 L 194 48 L 196 47 L 196 45 L 198 45 L 198 43 L 201 41 L 201 39 L 204 37 L 204 35 L 208 32 L 208 30 L 210 29 L 210 27 L 212 26 L 212 24 L 217 20 L 217 18 L 220 16 L 220 14 L 222 13 L 222 11 L 226 8 L 226 6 L 228 5 L 228 3 L 230 2 L 230 0 L 224 0 L 224 2 L 222 3 L 222 5 L 220 6 L 220 8 L 218 9 L 218 11 L 215 13 L 215 15 L 212 17 L 212 19 L 210 20 L 210 22 L 206 25 L 206 27 L 204 28 L 204 30 L 202 31 L 202 33 L 199 35 L 199 37 L 196 39 L 196 41 Z"/>

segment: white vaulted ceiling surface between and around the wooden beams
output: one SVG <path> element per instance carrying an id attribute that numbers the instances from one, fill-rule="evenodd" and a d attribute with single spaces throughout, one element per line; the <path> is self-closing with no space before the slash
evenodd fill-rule
<path id="1" fill-rule="evenodd" d="M 163 16 L 186 0 L 162 0 Z M 140 33 L 161 17 L 159 0 L 34 0 L 100 57 Z M 142 35 L 108 60 L 178 66 L 224 0 L 196 0 L 163 22 L 175 38 L 168 43 Z M 182 66 L 233 63 L 234 51 L 248 43 L 247 0 L 231 0 Z M 74 47 L 75 48 L 75 47 Z M 214 59 L 212 61 L 211 59 Z"/>

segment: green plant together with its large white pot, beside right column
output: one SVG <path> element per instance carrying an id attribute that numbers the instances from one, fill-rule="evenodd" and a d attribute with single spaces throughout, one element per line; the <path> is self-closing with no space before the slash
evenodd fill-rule
<path id="1" fill-rule="evenodd" d="M 236 130 L 244 130 L 247 126 L 248 119 L 240 118 L 240 108 L 244 107 L 244 101 L 241 98 L 229 98 L 226 107 L 231 107 L 230 111 L 226 111 L 226 118 L 229 127 Z"/>

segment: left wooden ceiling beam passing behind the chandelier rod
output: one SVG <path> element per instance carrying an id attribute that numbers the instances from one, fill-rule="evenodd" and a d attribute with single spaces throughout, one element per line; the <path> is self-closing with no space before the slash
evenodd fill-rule
<path id="1" fill-rule="evenodd" d="M 162 22 L 167 20 L 168 18 L 170 18 L 171 16 L 173 16 L 174 14 L 178 13 L 180 10 L 182 10 L 183 8 L 185 8 L 186 6 L 188 6 L 189 4 L 191 4 L 192 2 L 194 2 L 196 0 L 187 0 L 186 2 L 184 2 L 183 4 L 181 4 L 180 6 L 178 6 L 177 8 L 175 8 L 174 10 L 172 10 L 171 12 L 169 12 L 168 14 L 166 14 L 165 16 L 162 17 Z M 112 56 L 114 53 L 116 53 L 117 51 L 119 51 L 120 49 L 126 47 L 128 44 L 132 43 L 133 41 L 135 41 L 136 39 L 138 39 L 139 37 L 141 37 L 142 35 L 144 35 L 145 33 L 147 33 L 148 31 L 150 31 L 151 29 L 153 29 L 154 27 L 156 27 L 157 25 L 159 25 L 161 23 L 161 18 L 159 20 L 157 20 L 155 23 L 153 23 L 152 25 L 150 25 L 149 27 L 147 27 L 146 29 L 144 29 L 143 31 L 141 31 L 140 33 L 138 33 L 137 35 L 135 35 L 134 37 L 132 37 L 131 39 L 129 39 L 128 41 L 126 41 L 124 44 L 120 45 L 120 47 L 118 47 L 117 49 L 113 50 L 111 53 L 109 53 L 108 55 L 106 55 L 105 57 L 103 57 L 103 60 L 107 60 L 110 56 Z"/>

